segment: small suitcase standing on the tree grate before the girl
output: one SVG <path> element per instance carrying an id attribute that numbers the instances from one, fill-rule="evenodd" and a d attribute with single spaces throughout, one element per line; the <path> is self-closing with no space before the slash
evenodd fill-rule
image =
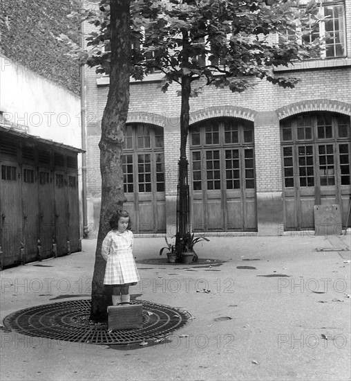
<path id="1" fill-rule="evenodd" d="M 109 305 L 108 330 L 142 328 L 142 304 L 128 302 Z"/>

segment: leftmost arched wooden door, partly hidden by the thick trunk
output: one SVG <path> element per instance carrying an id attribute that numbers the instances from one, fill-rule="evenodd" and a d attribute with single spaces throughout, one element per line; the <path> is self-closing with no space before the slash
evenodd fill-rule
<path id="1" fill-rule="evenodd" d="M 163 129 L 155 125 L 129 124 L 122 157 L 124 209 L 129 212 L 135 233 L 164 233 Z"/>

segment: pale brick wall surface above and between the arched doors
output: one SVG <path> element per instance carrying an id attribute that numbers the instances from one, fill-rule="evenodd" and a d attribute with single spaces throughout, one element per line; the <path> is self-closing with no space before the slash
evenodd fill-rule
<path id="1" fill-rule="evenodd" d="M 347 17 L 350 20 L 351 3 L 346 3 Z M 350 115 L 348 105 L 351 104 L 351 22 L 347 23 L 347 31 L 348 59 L 338 60 L 336 64 L 341 66 L 333 66 L 331 60 L 320 60 L 305 62 L 303 69 L 296 67 L 293 70 L 276 71 L 280 76 L 298 78 L 299 82 L 294 89 L 283 89 L 265 80 L 253 79 L 253 87 L 241 94 L 233 94 L 229 89 L 205 86 L 198 97 L 191 98 L 190 113 L 193 123 L 220 115 L 246 118 L 254 122 L 257 193 L 278 194 L 282 191 L 280 118 L 305 111 L 341 112 Z M 203 82 L 193 82 L 193 86 L 196 85 L 203 85 Z M 150 116 L 149 121 L 164 127 L 166 196 L 169 197 L 176 195 L 178 177 L 179 90 L 180 86 L 173 84 L 164 94 L 160 89 L 160 80 L 133 80 L 130 87 L 129 121 L 136 122 L 138 113 L 147 113 L 147 117 Z M 93 69 L 87 69 L 86 94 L 87 113 L 99 124 L 106 105 L 108 79 L 97 76 Z M 272 118 L 257 117 L 258 114 L 265 113 Z M 142 122 L 142 116 L 139 122 Z M 95 129 L 93 134 L 96 136 L 91 136 L 91 143 L 95 144 L 95 148 L 88 148 L 88 157 L 92 155 L 88 159 L 88 166 L 92 166 L 89 170 L 97 174 L 99 161 L 96 150 L 99 130 Z M 189 157 L 189 147 L 187 151 Z M 99 181 L 95 181 L 91 186 L 88 184 L 88 195 L 99 197 L 99 186 Z"/>

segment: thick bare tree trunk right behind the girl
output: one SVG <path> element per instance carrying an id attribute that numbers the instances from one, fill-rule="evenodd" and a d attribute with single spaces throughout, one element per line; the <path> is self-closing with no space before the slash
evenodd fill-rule
<path id="1" fill-rule="evenodd" d="M 130 75 L 130 0 L 110 0 L 111 6 L 111 69 L 110 87 L 99 142 L 102 197 L 99 233 L 91 292 L 91 320 L 105 321 L 111 293 L 104 287 L 106 261 L 101 255 L 102 240 L 110 230 L 112 213 L 122 209 L 123 192 L 122 148 L 129 107 Z"/>

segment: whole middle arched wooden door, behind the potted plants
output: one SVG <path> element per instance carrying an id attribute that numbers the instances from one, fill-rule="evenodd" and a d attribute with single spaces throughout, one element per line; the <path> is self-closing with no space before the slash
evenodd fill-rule
<path id="1" fill-rule="evenodd" d="M 190 150 L 193 231 L 257 231 L 253 123 L 196 123 Z"/>

